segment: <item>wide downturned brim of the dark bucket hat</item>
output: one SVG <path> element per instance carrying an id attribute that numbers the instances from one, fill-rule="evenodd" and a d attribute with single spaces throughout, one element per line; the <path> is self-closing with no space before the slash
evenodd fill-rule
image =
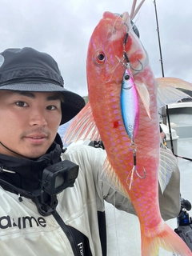
<path id="1" fill-rule="evenodd" d="M 0 90 L 61 93 L 64 98 L 64 102 L 61 104 L 62 121 L 60 126 L 74 118 L 74 116 L 86 105 L 84 99 L 80 95 L 50 82 L 18 82 L 0 86 Z"/>

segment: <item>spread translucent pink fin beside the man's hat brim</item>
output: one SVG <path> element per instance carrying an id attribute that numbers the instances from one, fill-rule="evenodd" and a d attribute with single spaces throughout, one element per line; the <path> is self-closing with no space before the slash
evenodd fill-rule
<path id="1" fill-rule="evenodd" d="M 100 134 L 88 102 L 70 123 L 63 140 L 66 144 L 69 144 L 70 142 L 85 141 L 87 139 L 98 141 L 99 138 Z"/>

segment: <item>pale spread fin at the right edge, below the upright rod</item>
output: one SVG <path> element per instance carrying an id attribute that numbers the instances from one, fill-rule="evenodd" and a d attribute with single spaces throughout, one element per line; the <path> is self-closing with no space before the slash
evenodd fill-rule
<path id="1" fill-rule="evenodd" d="M 178 102 L 182 98 L 191 98 L 182 91 L 182 89 L 192 90 L 190 82 L 179 78 L 156 78 L 156 81 L 158 82 L 158 108 Z"/>

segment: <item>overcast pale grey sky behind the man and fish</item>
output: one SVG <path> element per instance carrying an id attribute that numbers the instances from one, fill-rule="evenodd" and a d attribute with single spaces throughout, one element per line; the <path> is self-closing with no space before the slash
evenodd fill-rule
<path id="1" fill-rule="evenodd" d="M 138 0 L 138 3 L 140 1 Z M 0 52 L 34 47 L 58 62 L 66 89 L 86 89 L 86 53 L 104 11 L 130 12 L 132 0 L 0 0 Z M 192 82 L 191 0 L 156 0 L 165 76 Z M 134 22 L 156 77 L 162 76 L 154 0 L 146 0 Z"/>

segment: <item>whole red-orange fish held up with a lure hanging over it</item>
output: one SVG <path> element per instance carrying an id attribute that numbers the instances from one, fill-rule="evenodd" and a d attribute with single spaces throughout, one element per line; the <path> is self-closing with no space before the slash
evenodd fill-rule
<path id="1" fill-rule="evenodd" d="M 121 105 L 122 78 L 128 63 L 139 105 L 134 141 L 127 133 Z M 159 246 L 183 256 L 192 255 L 185 242 L 162 220 L 158 206 L 159 164 L 166 162 L 169 166 L 175 162 L 167 150 L 159 152 L 158 103 L 159 106 L 169 103 L 162 89 L 169 92 L 170 101 L 173 98 L 176 101 L 186 94 L 175 93 L 175 87 L 192 90 L 192 86 L 176 78 L 157 81 L 146 50 L 132 30 L 129 14 L 120 17 L 110 12 L 103 14 L 90 38 L 87 82 L 90 102 L 74 118 L 65 140 L 101 138 L 104 142 L 107 159 L 102 178 L 134 204 L 141 227 L 142 256 L 158 255 Z M 127 115 L 130 112 L 128 110 Z M 171 175 L 169 171 L 168 168 L 167 180 Z M 162 190 L 165 186 L 162 182 Z"/>

